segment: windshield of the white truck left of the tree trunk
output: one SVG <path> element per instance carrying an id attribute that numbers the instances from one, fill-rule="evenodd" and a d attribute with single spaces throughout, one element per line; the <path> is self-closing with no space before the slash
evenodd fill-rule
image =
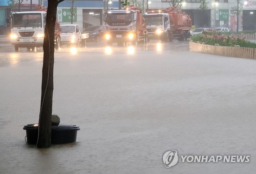
<path id="1" fill-rule="evenodd" d="M 19 13 L 12 15 L 12 27 L 42 27 L 41 13 Z"/>

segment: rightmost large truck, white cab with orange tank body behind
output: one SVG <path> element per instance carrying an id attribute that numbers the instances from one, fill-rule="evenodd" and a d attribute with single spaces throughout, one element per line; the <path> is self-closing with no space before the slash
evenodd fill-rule
<path id="1" fill-rule="evenodd" d="M 169 41 L 174 38 L 186 40 L 190 37 L 192 20 L 185 12 L 178 11 L 177 7 L 148 11 L 144 17 L 148 38 Z"/>

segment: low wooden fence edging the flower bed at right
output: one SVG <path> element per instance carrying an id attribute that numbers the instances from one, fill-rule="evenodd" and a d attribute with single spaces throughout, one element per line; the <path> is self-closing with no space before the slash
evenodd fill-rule
<path id="1" fill-rule="evenodd" d="M 189 41 L 189 51 L 228 57 L 256 59 L 256 49 L 254 48 L 211 46 Z"/>

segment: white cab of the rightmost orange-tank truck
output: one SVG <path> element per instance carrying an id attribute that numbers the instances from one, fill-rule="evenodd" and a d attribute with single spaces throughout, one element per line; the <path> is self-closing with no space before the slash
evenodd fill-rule
<path id="1" fill-rule="evenodd" d="M 146 20 L 147 41 L 160 39 L 171 40 L 170 19 L 168 13 L 152 12 L 143 15 Z"/>

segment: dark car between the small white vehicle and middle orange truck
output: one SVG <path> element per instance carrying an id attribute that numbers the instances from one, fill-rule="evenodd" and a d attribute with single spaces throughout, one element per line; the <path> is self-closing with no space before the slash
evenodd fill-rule
<path id="1" fill-rule="evenodd" d="M 88 33 L 89 37 L 86 40 L 99 42 L 104 37 L 106 26 L 90 26 L 83 30 L 82 34 Z"/>

